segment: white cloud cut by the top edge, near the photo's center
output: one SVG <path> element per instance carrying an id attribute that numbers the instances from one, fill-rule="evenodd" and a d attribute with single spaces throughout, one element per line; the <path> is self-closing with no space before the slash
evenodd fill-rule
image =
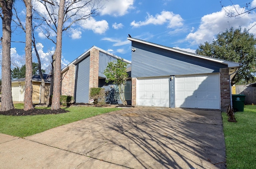
<path id="1" fill-rule="evenodd" d="M 102 15 L 123 16 L 133 9 L 134 0 L 104 0 L 104 8 L 100 11 Z"/>

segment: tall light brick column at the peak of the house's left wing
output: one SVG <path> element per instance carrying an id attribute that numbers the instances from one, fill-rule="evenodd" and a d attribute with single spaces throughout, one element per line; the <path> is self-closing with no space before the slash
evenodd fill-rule
<path id="1" fill-rule="evenodd" d="M 90 79 L 89 88 L 99 86 L 99 53 L 98 49 L 90 51 Z"/>

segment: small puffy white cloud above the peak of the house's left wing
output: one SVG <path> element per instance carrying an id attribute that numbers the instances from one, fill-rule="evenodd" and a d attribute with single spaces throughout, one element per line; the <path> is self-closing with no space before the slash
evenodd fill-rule
<path id="1" fill-rule="evenodd" d="M 92 30 L 94 33 L 102 34 L 108 30 L 108 22 L 106 20 L 96 21 L 94 18 L 90 18 L 86 20 L 82 27 Z"/>

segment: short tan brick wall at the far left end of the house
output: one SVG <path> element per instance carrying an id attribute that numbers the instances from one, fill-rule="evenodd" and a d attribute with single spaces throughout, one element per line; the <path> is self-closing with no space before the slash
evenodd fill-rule
<path id="1" fill-rule="evenodd" d="M 68 95 L 74 97 L 76 66 L 71 64 L 68 70 L 62 73 L 61 81 L 61 95 Z"/>

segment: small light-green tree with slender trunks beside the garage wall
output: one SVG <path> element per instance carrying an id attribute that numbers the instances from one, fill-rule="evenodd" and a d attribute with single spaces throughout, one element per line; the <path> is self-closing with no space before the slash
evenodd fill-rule
<path id="1" fill-rule="evenodd" d="M 127 67 L 127 63 L 123 62 L 122 60 L 117 60 L 117 61 L 109 62 L 108 66 L 104 70 L 104 75 L 107 77 L 106 83 L 108 83 L 109 81 L 113 81 L 114 84 L 118 85 L 119 97 L 123 105 L 127 104 L 124 97 L 124 86 L 128 78 L 126 67 Z"/>

